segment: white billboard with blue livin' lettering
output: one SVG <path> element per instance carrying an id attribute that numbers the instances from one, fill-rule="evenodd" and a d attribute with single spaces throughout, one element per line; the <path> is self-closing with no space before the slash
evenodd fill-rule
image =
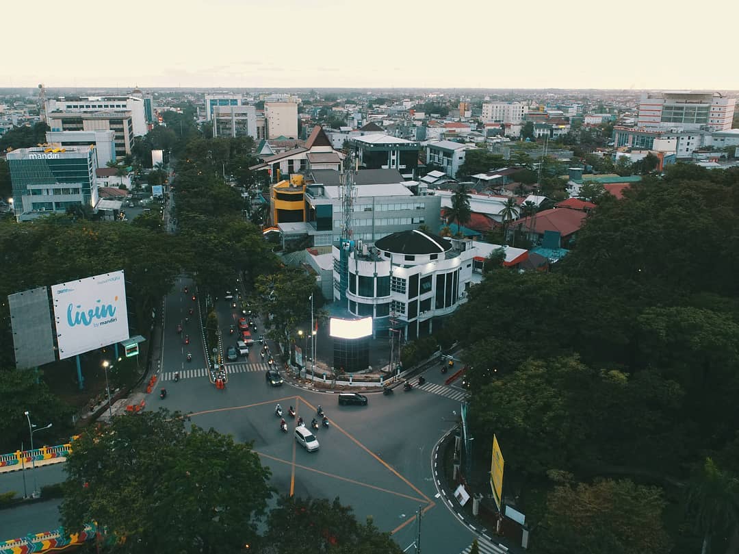
<path id="1" fill-rule="evenodd" d="M 51 288 L 59 359 L 129 338 L 123 270 Z"/>

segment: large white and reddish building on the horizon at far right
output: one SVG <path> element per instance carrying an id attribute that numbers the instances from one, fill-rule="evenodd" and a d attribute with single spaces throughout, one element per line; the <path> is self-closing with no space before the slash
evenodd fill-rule
<path id="1" fill-rule="evenodd" d="M 637 127 L 723 131 L 732 128 L 736 98 L 719 92 L 644 92 Z"/>

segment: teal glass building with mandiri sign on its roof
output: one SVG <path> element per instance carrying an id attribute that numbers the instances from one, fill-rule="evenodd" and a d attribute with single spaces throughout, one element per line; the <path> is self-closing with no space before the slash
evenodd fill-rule
<path id="1" fill-rule="evenodd" d="M 68 206 L 98 204 L 95 149 L 20 148 L 7 153 L 16 220 L 65 212 Z"/>

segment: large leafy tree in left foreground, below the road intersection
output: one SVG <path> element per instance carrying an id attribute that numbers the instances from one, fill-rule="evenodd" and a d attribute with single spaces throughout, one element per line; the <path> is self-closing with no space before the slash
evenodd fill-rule
<path id="1" fill-rule="evenodd" d="M 120 553 L 239 551 L 256 541 L 271 495 L 251 444 L 185 431 L 182 416 L 165 410 L 89 428 L 65 470 L 64 527 L 97 521 Z"/>

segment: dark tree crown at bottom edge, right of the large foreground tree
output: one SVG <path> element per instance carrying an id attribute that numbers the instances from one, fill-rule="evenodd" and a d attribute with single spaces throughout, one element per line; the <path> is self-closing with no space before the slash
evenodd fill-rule
<path id="1" fill-rule="evenodd" d="M 359 523 L 338 498 L 282 496 L 270 511 L 259 551 L 265 554 L 401 554 L 402 549 L 369 520 Z"/>

